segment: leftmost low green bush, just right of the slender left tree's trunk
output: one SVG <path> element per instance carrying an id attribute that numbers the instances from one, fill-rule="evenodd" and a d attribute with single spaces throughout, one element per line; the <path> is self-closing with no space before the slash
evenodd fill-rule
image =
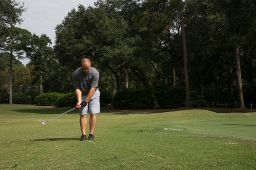
<path id="1" fill-rule="evenodd" d="M 13 93 L 12 103 L 13 104 L 35 104 L 36 93 Z"/>

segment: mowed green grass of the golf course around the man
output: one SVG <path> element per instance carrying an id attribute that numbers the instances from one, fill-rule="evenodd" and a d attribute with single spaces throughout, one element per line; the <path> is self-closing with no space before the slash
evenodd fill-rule
<path id="1" fill-rule="evenodd" d="M 256 112 L 102 108 L 91 141 L 78 110 L 39 122 L 70 109 L 0 104 L 0 169 L 256 170 Z"/>

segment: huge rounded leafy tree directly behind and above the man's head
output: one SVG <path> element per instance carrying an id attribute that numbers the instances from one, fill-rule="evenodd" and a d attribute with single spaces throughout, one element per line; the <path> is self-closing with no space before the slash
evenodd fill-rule
<path id="1" fill-rule="evenodd" d="M 56 27 L 55 52 L 62 65 L 77 68 L 82 58 L 98 63 L 101 70 L 109 69 L 120 89 L 123 70 L 132 52 L 127 36 L 128 25 L 118 11 L 102 3 L 97 8 L 73 9 Z"/>

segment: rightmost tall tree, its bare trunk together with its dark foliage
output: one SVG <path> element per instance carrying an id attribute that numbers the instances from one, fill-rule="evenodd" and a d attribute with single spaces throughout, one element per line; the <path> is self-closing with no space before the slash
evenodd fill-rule
<path id="1" fill-rule="evenodd" d="M 237 81 L 238 81 L 238 97 L 239 97 L 239 107 L 245 108 L 244 99 L 243 99 L 243 89 L 242 89 L 242 73 L 241 73 L 241 65 L 240 65 L 240 47 L 245 43 L 244 38 L 247 36 L 247 26 L 250 25 L 249 17 L 253 17 L 249 15 L 247 10 L 248 4 L 250 1 L 227 1 L 224 0 L 215 9 L 219 12 L 220 15 L 223 15 L 226 19 L 226 36 L 229 47 L 234 54 L 235 63 L 236 63 L 236 73 L 237 73 Z M 220 6 L 221 5 L 221 6 Z M 229 7 L 229 8 L 225 8 Z M 225 9 L 224 9 L 225 8 Z M 250 14 L 250 13 L 249 13 Z M 246 18 L 246 19 L 245 19 Z"/>

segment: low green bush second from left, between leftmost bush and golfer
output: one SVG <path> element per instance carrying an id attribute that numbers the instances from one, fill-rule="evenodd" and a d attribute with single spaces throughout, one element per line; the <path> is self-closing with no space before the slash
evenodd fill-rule
<path id="1" fill-rule="evenodd" d="M 36 103 L 42 106 L 56 106 L 63 93 L 42 93 L 36 97 Z"/>

